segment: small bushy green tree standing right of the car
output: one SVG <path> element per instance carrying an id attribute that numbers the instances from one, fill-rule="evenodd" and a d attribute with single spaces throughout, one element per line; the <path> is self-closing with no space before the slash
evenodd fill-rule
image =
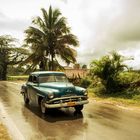
<path id="1" fill-rule="evenodd" d="M 101 79 L 107 93 L 119 90 L 120 81 L 118 75 L 127 68 L 127 66 L 123 64 L 124 60 L 126 59 L 117 52 L 111 52 L 110 55 L 91 62 L 91 74 Z"/>

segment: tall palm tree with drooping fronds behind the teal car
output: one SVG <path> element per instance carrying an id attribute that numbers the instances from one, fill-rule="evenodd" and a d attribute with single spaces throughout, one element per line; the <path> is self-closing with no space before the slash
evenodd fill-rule
<path id="1" fill-rule="evenodd" d="M 62 16 L 59 9 L 52 10 L 49 7 L 48 12 L 41 9 L 42 18 L 35 17 L 32 21 L 34 26 L 25 30 L 25 43 L 31 48 L 32 54 L 25 61 L 31 62 L 31 69 L 38 64 L 42 70 L 55 70 L 59 59 L 67 64 L 76 62 L 76 51 L 72 46 L 78 46 L 77 37 L 70 33 L 66 18 Z"/>

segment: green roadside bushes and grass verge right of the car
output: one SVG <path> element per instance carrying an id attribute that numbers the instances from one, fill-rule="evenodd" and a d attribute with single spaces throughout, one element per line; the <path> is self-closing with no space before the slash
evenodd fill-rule
<path id="1" fill-rule="evenodd" d="M 140 106 L 140 72 L 124 64 L 130 60 L 112 52 L 90 65 L 89 75 L 79 82 L 97 100 L 116 101 Z"/>

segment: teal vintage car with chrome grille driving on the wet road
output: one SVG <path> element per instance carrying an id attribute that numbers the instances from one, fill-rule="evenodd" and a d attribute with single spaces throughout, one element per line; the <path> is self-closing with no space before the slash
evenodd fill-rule
<path id="1" fill-rule="evenodd" d="M 74 107 L 81 111 L 88 103 L 87 90 L 74 86 L 63 72 L 32 72 L 21 93 L 25 104 L 37 103 L 43 114 L 50 108 Z"/>

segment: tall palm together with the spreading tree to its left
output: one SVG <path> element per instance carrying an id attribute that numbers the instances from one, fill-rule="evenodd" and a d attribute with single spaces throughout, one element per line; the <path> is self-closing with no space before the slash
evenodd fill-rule
<path id="1" fill-rule="evenodd" d="M 25 30 L 22 47 L 16 47 L 11 36 L 0 36 L 0 79 L 5 80 L 8 65 L 27 65 L 29 71 L 58 70 L 63 68 L 59 63 L 76 62 L 78 39 L 71 34 L 66 18 L 59 9 L 41 9 L 42 17 L 32 20 L 33 26 Z"/>

